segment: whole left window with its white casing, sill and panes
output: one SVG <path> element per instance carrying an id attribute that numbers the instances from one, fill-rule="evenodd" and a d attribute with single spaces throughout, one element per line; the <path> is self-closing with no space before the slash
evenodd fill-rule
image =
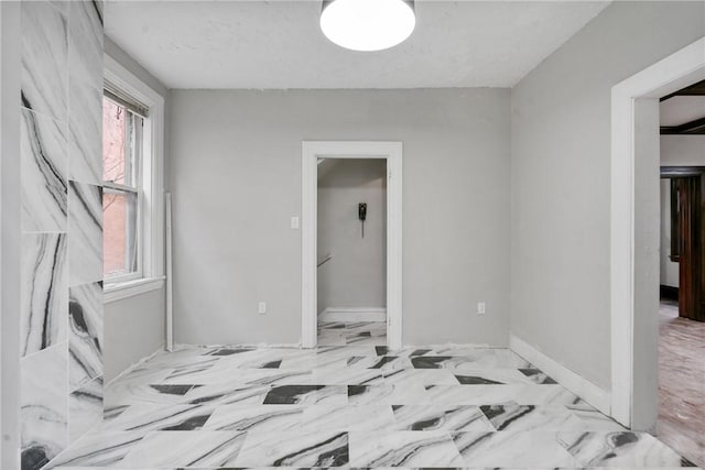
<path id="1" fill-rule="evenodd" d="M 104 302 L 164 285 L 164 98 L 105 55 Z"/>

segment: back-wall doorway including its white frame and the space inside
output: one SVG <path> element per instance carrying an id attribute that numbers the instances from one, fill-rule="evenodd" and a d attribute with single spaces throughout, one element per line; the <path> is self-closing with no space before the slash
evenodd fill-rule
<path id="1" fill-rule="evenodd" d="M 327 326 L 340 318 L 373 321 L 375 325 L 357 325 L 350 329 L 345 324 L 356 324 L 355 320 L 343 321 L 348 331 L 330 331 L 338 328 L 323 328 L 324 343 L 337 342 L 346 345 L 366 341 L 384 342 L 389 349 L 400 349 L 402 346 L 402 144 L 401 142 L 303 142 L 302 145 L 302 338 L 304 348 L 318 345 L 319 315 Z M 355 163 L 361 161 L 362 163 Z M 369 161 L 377 161 L 370 163 Z M 328 162 L 328 163 L 326 163 Z M 351 163 L 346 163 L 351 162 Z M 367 163 L 366 163 L 367 162 Z M 360 186 L 365 178 L 375 181 L 373 186 L 383 188 L 383 195 L 377 190 L 373 199 L 362 200 L 361 193 L 345 194 L 333 188 L 324 188 L 339 193 L 333 199 L 340 199 L 330 205 L 330 195 L 319 204 L 318 175 L 319 167 L 323 177 L 333 174 L 332 181 L 340 183 L 345 176 L 337 175 L 336 167 L 344 171 L 356 168 L 355 176 Z M 379 172 L 381 173 L 375 173 Z M 326 173 L 327 172 L 327 173 Z M 336 173 L 333 173 L 336 172 Z M 365 176 L 367 173 L 367 176 Z M 337 176 L 337 177 L 336 177 Z M 381 177 L 381 181 L 379 179 Z M 377 179 L 375 179 L 377 178 Z M 351 184 L 349 181 L 348 184 Z M 328 183 L 329 185 L 329 183 Z M 375 192 L 372 192 L 375 193 Z M 352 197 L 355 196 L 355 197 Z M 380 197 L 383 200 L 380 200 Z M 348 200 L 349 199 L 349 200 Z M 354 200 L 355 199 L 355 200 Z M 359 199 L 359 200 L 358 200 Z M 367 205 L 367 206 L 362 206 Z M 365 212 L 365 214 L 364 214 Z M 383 217 L 382 217 L 383 215 Z M 360 220 L 365 218 L 366 220 Z M 375 221 L 372 221 L 372 218 Z M 335 221 L 338 222 L 335 222 Z M 345 222 L 343 222 L 345 220 Z M 318 230 L 321 222 L 322 231 Z M 384 236 L 380 232 L 384 228 Z M 365 237 L 362 238 L 362 231 Z M 370 234 L 370 230 L 375 234 Z M 336 233 L 343 232 L 348 247 L 335 244 Z M 319 241 L 319 234 L 323 239 Z M 333 237 L 333 238 L 332 238 Z M 359 237 L 359 239 L 358 239 Z M 339 237 L 338 237 L 339 238 Z M 362 242 L 360 242 L 362 240 Z M 350 248 L 349 244 L 355 243 Z M 375 249 L 372 249 L 372 245 Z M 357 252 L 356 252 L 357 250 Z M 365 253 L 362 253 L 365 251 Z M 365 255 L 378 256 L 381 263 L 366 264 Z M 381 256 L 381 260 L 379 260 Z M 357 258 L 355 261 L 350 261 Z M 371 258 L 370 258 L 371 259 Z M 337 263 L 336 263 L 337 262 Z M 371 262 L 370 262 L 371 263 Z M 339 272 L 332 276 L 329 271 Z M 382 271 L 383 267 L 383 271 Z M 373 281 L 373 287 L 360 287 L 365 270 L 375 271 L 375 275 L 382 283 Z M 319 283 L 321 276 L 321 283 Z M 372 274 L 367 273 L 368 277 Z M 380 291 L 381 287 L 381 291 Z M 362 297 L 360 292 L 367 292 Z M 351 300 L 352 297 L 358 297 Z M 383 303 L 380 302 L 383 299 Z M 354 302 L 372 303 L 372 305 L 354 304 Z M 343 303 L 344 305 L 333 305 Z M 321 305 L 319 305 L 321 304 Z M 375 305 L 377 304 L 377 305 Z M 327 311 L 326 311 L 327 309 Z M 383 317 L 382 317 L 383 315 Z M 383 318 L 382 321 L 377 321 Z M 386 321 L 384 321 L 386 320 Z M 356 325 L 352 325 L 355 327 Z M 372 331 L 373 330 L 373 331 Z M 367 340 L 372 335 L 377 340 Z M 341 338 L 344 335 L 345 338 Z M 356 336 L 357 335 L 357 336 Z M 368 336 L 369 335 L 369 336 Z M 383 340 L 386 338 L 386 341 Z M 349 342 L 348 342 L 349 340 Z M 338 346 L 329 345 L 329 346 Z M 382 347 L 383 345 L 375 345 Z"/>

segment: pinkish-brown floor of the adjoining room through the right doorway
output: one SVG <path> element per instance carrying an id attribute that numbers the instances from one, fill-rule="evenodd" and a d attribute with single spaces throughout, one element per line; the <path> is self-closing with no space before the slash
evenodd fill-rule
<path id="1" fill-rule="evenodd" d="M 679 318 L 677 303 L 662 303 L 659 336 L 657 436 L 705 466 L 705 324 Z"/>

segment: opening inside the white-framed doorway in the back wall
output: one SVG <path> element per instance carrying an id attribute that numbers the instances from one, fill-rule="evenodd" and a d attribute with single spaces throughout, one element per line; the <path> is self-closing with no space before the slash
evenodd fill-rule
<path id="1" fill-rule="evenodd" d="M 317 345 L 387 346 L 387 160 L 317 164 Z"/>

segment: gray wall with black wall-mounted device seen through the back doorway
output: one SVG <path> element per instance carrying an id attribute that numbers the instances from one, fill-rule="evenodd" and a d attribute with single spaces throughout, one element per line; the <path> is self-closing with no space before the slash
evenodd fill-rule
<path id="1" fill-rule="evenodd" d="M 318 178 L 318 311 L 387 306 L 387 165 L 336 160 Z M 322 172 L 323 173 L 323 172 Z M 367 204 L 365 238 L 358 204 Z"/>

